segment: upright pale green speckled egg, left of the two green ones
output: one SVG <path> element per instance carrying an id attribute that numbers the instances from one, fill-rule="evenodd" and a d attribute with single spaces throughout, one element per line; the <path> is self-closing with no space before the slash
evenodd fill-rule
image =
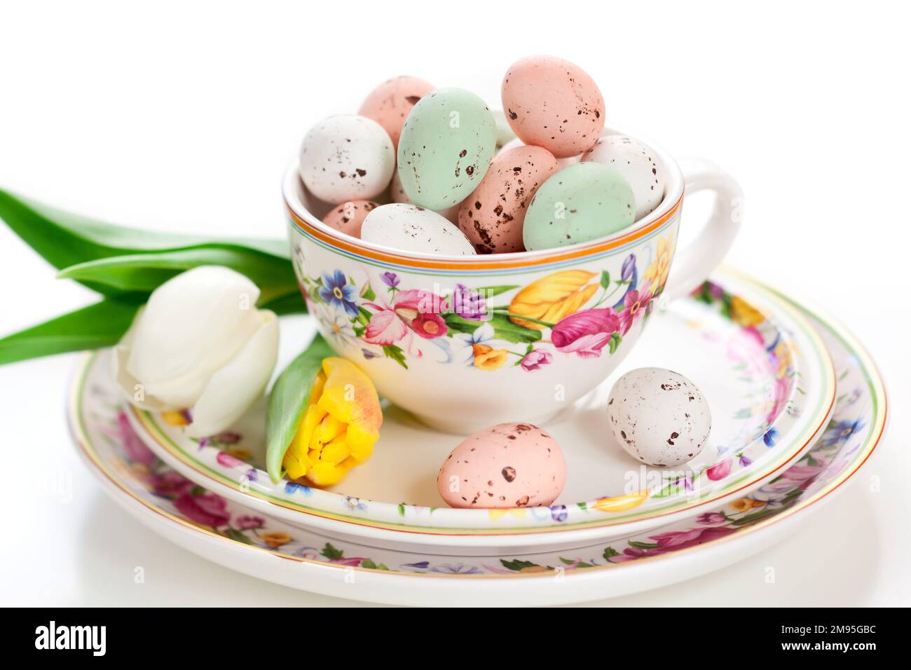
<path id="1" fill-rule="evenodd" d="M 445 210 L 481 183 L 496 150 L 496 121 L 484 100 L 437 88 L 405 119 L 398 145 L 404 192 L 416 205 Z"/>

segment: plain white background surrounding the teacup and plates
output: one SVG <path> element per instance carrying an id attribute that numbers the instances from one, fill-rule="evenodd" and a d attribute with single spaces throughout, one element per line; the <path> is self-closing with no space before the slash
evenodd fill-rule
<path id="1" fill-rule="evenodd" d="M 566 57 L 599 82 L 609 123 L 741 181 L 728 263 L 849 325 L 892 408 L 878 458 L 798 536 L 602 604 L 909 604 L 911 22 L 887 6 L 4 2 L 0 184 L 112 222 L 281 237 L 281 173 L 316 120 L 398 74 L 498 106 L 513 60 Z M 91 301 L 2 225 L 0 286 L 0 334 Z M 72 364 L 0 368 L 0 601 L 350 604 L 229 572 L 116 508 L 67 436 Z M 71 501 L 48 494 L 48 472 L 72 477 Z"/>

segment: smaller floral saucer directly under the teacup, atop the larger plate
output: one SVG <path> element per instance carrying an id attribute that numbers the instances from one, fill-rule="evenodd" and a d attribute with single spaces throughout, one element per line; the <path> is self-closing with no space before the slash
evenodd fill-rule
<path id="1" fill-rule="evenodd" d="M 696 381 L 714 417 L 709 446 L 686 467 L 635 463 L 608 428 L 608 380 L 548 424 L 568 459 L 566 490 L 549 507 L 446 508 L 435 478 L 456 440 L 394 407 L 386 411 L 373 459 L 333 490 L 271 482 L 261 468 L 261 407 L 232 431 L 202 440 L 184 434 L 182 417 L 133 408 L 127 415 L 140 438 L 185 477 L 261 513 L 348 540 L 476 554 L 617 537 L 760 486 L 799 457 L 831 412 L 832 364 L 811 326 L 773 294 L 721 276 L 721 283 L 654 314 L 647 343 L 618 373 L 659 365 Z M 283 340 L 306 341 L 289 328 Z M 536 532 L 548 536 L 527 537 Z"/>

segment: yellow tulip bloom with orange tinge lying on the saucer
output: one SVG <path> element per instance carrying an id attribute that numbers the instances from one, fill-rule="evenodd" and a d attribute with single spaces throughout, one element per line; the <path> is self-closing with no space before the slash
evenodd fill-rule
<path id="1" fill-rule="evenodd" d="M 289 479 L 306 477 L 316 486 L 332 486 L 370 458 L 382 423 L 370 378 L 351 361 L 325 358 L 281 464 Z"/>

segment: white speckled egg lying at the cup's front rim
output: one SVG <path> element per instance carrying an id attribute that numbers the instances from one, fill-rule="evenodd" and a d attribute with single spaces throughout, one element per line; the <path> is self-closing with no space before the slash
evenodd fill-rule
<path id="1" fill-rule="evenodd" d="M 361 226 L 364 242 L 404 252 L 471 256 L 475 247 L 462 231 L 435 211 L 394 202 L 367 214 Z"/>

